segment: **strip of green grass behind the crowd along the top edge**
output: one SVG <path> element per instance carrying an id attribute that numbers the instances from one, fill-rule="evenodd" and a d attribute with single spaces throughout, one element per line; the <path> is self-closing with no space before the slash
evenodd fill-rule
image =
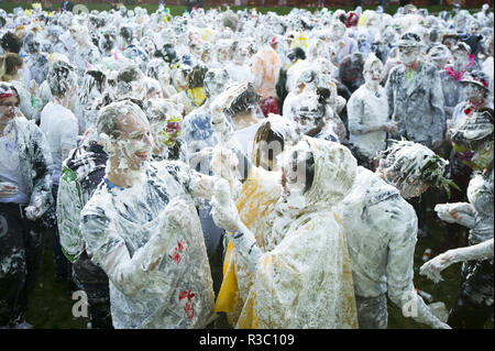
<path id="1" fill-rule="evenodd" d="M 58 6 L 59 6 L 59 2 L 54 2 L 54 8 L 55 9 L 57 9 Z M 9 3 L 9 2 L 6 3 L 6 2 L 1 2 L 0 3 L 0 9 L 4 9 L 7 12 L 12 12 L 13 9 L 19 8 L 19 7 L 21 7 L 23 9 L 32 9 L 31 2 L 22 2 L 22 3 Z M 128 9 L 133 9 L 136 6 L 127 6 Z M 157 4 L 141 4 L 140 7 L 147 9 L 148 13 L 155 12 L 156 9 L 158 8 Z M 89 10 L 98 10 L 98 11 L 103 11 L 103 10 L 108 11 L 108 10 L 111 9 L 110 4 L 107 4 L 107 3 L 90 3 L 90 4 L 87 4 L 87 8 Z M 168 6 L 168 8 L 170 9 L 170 13 L 173 15 L 180 15 L 186 10 L 186 7 L 180 7 L 180 6 Z M 245 8 L 253 9 L 254 7 L 231 7 L 231 9 L 233 11 L 242 10 L 242 9 L 245 9 Z M 387 13 L 394 14 L 397 11 L 397 8 L 398 8 L 398 6 L 389 6 L 389 7 L 386 8 L 385 11 Z M 211 7 L 205 7 L 205 10 L 208 10 L 208 9 L 211 9 Z M 292 9 L 293 8 L 290 8 L 290 7 L 274 7 L 274 8 L 256 7 L 256 10 L 258 12 L 261 12 L 261 13 L 266 13 L 266 12 L 271 11 L 271 12 L 276 12 L 276 13 L 278 13 L 280 15 L 289 13 Z M 311 12 L 315 12 L 315 11 L 318 10 L 318 8 L 306 8 L 306 9 L 311 11 Z M 339 8 L 328 8 L 328 9 L 331 10 L 331 11 L 334 11 L 337 9 L 342 9 L 342 10 L 345 10 L 345 11 L 353 10 L 352 7 L 339 7 Z M 363 7 L 363 10 L 366 10 L 366 9 L 375 9 L 375 7 Z M 438 13 L 440 11 L 450 11 L 450 10 L 452 10 L 452 7 L 449 7 L 449 6 L 430 6 L 430 7 L 426 7 L 426 9 L 428 9 L 428 11 L 430 13 Z M 470 10 L 470 9 L 471 10 L 479 10 L 480 8 L 469 7 L 468 6 L 464 9 L 466 9 L 466 10 Z M 226 7 L 222 7 L 222 10 L 226 10 Z"/>

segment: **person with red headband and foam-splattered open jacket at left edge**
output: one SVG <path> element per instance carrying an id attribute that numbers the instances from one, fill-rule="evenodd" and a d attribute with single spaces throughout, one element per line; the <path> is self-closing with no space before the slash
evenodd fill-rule
<path id="1" fill-rule="evenodd" d="M 0 326 L 24 320 L 53 226 L 52 155 L 42 131 L 19 113 L 20 96 L 0 83 Z"/>

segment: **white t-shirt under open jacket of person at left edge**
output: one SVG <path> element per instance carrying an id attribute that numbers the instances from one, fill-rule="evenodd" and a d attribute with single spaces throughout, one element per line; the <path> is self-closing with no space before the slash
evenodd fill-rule
<path id="1" fill-rule="evenodd" d="M 0 202 L 28 204 L 28 187 L 21 175 L 19 147 L 13 133 L 0 135 L 0 183 L 10 183 L 18 187 L 13 197 L 2 198 Z"/>

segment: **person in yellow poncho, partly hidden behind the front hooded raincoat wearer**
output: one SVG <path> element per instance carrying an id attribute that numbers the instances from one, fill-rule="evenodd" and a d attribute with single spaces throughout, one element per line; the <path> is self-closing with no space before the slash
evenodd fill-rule
<path id="1" fill-rule="evenodd" d="M 242 184 L 235 207 L 242 222 L 253 231 L 256 243 L 265 252 L 268 250 L 270 213 L 282 195 L 280 165 L 278 158 L 285 149 L 300 140 L 294 122 L 282 116 L 270 114 L 257 130 L 246 179 Z M 229 242 L 223 261 L 222 286 L 215 305 L 216 311 L 226 312 L 231 326 L 238 323 L 245 305 L 253 275 L 245 261 Z"/>

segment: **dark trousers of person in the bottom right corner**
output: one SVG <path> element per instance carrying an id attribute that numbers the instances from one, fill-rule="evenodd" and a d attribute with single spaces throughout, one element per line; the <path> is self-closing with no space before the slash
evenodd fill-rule
<path id="1" fill-rule="evenodd" d="M 483 329 L 493 318 L 493 260 L 462 264 L 461 289 L 447 323 L 457 329 Z"/>

